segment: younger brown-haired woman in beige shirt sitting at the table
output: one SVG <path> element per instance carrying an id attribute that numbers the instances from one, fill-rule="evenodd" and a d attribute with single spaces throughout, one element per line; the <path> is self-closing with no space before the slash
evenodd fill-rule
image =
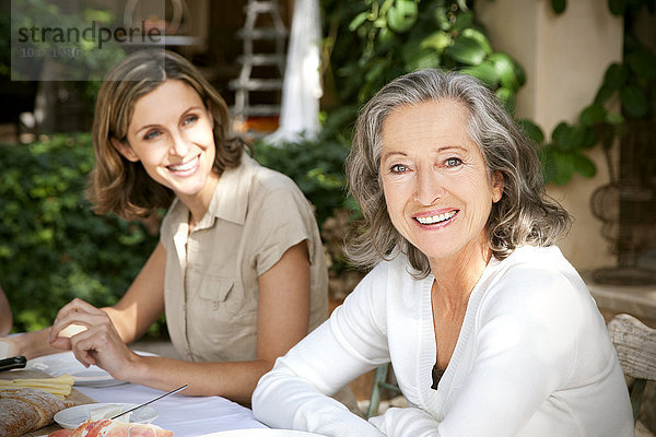
<path id="1" fill-rule="evenodd" d="M 13 352 L 72 349 L 119 380 L 250 401 L 274 359 L 326 319 L 327 269 L 307 200 L 229 131 L 224 101 L 183 57 L 136 52 L 109 71 L 91 198 L 128 220 L 167 209 L 160 243 L 114 307 L 74 299 L 49 330 L 8 339 Z M 126 345 L 164 312 L 183 361 Z M 74 324 L 82 332 L 62 333 Z"/>

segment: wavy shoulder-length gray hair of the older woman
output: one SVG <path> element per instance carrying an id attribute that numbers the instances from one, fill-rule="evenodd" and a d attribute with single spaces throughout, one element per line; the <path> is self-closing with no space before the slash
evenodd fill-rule
<path id="1" fill-rule="evenodd" d="M 467 107 L 468 134 L 483 155 L 488 175 L 503 175 L 503 196 L 492 205 L 485 225 L 493 256 L 504 259 L 523 245 L 550 246 L 569 231 L 570 215 L 546 194 L 534 145 L 496 96 L 469 75 L 426 69 L 395 79 L 358 117 L 347 178 L 364 220 L 345 248 L 356 265 L 372 268 L 400 251 L 419 277 L 429 274 L 426 256 L 394 227 L 387 213 L 379 172 L 382 132 L 385 119 L 397 108 L 444 99 Z"/>

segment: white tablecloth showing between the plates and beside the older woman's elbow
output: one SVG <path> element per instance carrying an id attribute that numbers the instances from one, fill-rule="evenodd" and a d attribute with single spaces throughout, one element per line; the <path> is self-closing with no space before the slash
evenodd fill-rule
<path id="1" fill-rule="evenodd" d="M 75 389 L 97 402 L 142 403 L 163 394 L 161 390 L 134 383 Z M 253 412 L 238 403 L 219 397 L 172 394 L 151 404 L 160 416 L 153 422 L 174 433 L 175 437 L 200 436 L 219 430 L 266 428 Z"/>

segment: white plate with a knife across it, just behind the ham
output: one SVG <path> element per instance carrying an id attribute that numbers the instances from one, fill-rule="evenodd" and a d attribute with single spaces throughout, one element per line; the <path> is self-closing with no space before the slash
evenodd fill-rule
<path id="1" fill-rule="evenodd" d="M 74 429 L 85 421 L 99 421 L 103 418 L 112 418 L 117 414 L 126 412 L 137 406 L 137 403 L 87 403 L 84 405 L 71 406 L 70 409 L 61 410 L 55 414 L 55 422 L 62 428 Z M 152 406 L 142 406 L 139 410 L 127 413 L 116 422 L 121 423 L 138 423 L 149 424 L 153 422 L 160 413 Z"/>

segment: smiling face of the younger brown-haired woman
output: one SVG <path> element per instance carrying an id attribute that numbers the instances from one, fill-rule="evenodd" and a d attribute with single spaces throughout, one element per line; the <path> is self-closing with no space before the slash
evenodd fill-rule
<path id="1" fill-rule="evenodd" d="M 121 154 L 178 197 L 208 189 L 215 149 L 212 116 L 185 82 L 167 80 L 134 104 Z M 213 189 L 213 187 L 210 187 Z"/>

